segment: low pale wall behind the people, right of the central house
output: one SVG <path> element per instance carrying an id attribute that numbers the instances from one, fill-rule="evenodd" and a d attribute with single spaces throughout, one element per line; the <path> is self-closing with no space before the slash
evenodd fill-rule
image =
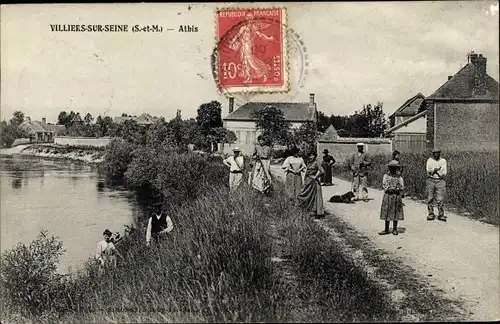
<path id="1" fill-rule="evenodd" d="M 339 163 L 346 162 L 352 154 L 356 153 L 356 143 L 365 143 L 365 152 L 370 154 L 388 154 L 392 153 L 392 141 L 386 138 L 349 138 L 339 137 L 330 142 L 319 142 L 317 145 L 318 155 L 321 155 L 324 149 L 330 152 Z"/>

